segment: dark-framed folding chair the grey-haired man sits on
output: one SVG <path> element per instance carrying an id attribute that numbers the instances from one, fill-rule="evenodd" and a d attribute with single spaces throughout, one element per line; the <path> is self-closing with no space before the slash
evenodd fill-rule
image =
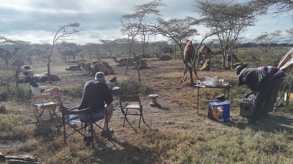
<path id="1" fill-rule="evenodd" d="M 61 102 L 61 104 L 62 104 L 62 102 Z M 91 105 L 90 104 L 89 104 L 89 107 L 87 109 L 82 109 L 82 110 L 75 110 L 75 109 L 77 109 L 77 107 L 72 108 L 72 109 L 66 109 L 66 108 L 64 108 L 63 105 L 61 105 L 62 123 L 63 123 L 63 130 L 64 130 L 64 143 L 66 143 L 66 137 L 68 137 L 68 136 L 70 136 L 70 135 L 72 135 L 72 134 L 74 134 L 76 132 L 78 132 L 79 134 L 81 134 L 84 137 L 84 142 L 86 141 L 87 146 L 89 146 L 89 144 L 92 143 L 93 149 L 94 149 L 94 147 L 96 147 L 99 144 L 101 144 L 101 143 L 103 143 L 103 142 L 108 140 L 109 133 L 108 133 L 108 121 L 107 121 L 107 110 L 106 109 L 104 109 L 105 110 L 105 115 L 101 116 L 100 118 L 96 118 L 95 120 L 93 120 L 93 114 L 95 114 L 95 113 L 91 112 Z M 82 121 L 78 116 L 79 114 L 86 114 L 86 120 Z M 66 115 L 76 115 L 76 116 L 65 120 Z M 88 115 L 90 115 L 89 118 L 88 118 Z M 100 127 L 97 124 L 97 122 L 99 120 L 102 120 L 102 119 L 104 120 L 104 118 L 106 118 L 106 121 L 107 121 L 107 131 L 106 131 L 107 132 L 107 138 L 104 139 L 102 142 L 98 143 L 97 145 L 94 145 L 94 143 L 93 143 L 93 125 L 96 125 L 96 126 L 98 126 L 98 128 L 103 130 L 103 128 Z M 70 125 L 70 121 L 73 121 L 73 122 L 76 122 L 76 123 L 81 123 L 81 127 L 78 128 L 78 129 L 75 128 L 73 125 Z M 74 131 L 72 131 L 71 133 L 66 135 L 65 124 L 69 125 L 70 128 L 73 128 Z M 91 126 L 91 135 L 86 135 L 86 128 L 87 128 L 88 125 Z M 83 129 L 84 129 L 84 134 L 82 133 Z"/>

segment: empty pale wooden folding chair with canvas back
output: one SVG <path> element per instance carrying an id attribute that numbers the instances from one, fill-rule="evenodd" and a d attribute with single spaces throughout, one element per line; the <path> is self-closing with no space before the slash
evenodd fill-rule
<path id="1" fill-rule="evenodd" d="M 41 94 L 40 87 L 37 87 L 37 88 L 35 88 L 33 86 L 30 86 L 30 87 L 31 87 L 31 91 L 32 91 L 33 100 L 36 100 L 37 98 L 40 99 L 40 101 L 32 102 L 32 105 L 35 107 L 36 116 L 38 118 L 37 124 L 39 123 L 40 126 L 42 126 L 42 125 L 55 124 L 55 123 L 59 122 L 60 125 L 62 125 L 57 114 L 55 113 L 56 107 L 59 107 L 61 104 L 61 102 L 58 102 L 58 99 L 57 99 L 58 95 L 56 95 L 56 96 L 43 96 Z M 53 102 L 53 101 L 49 100 L 49 99 L 52 99 L 53 97 L 56 97 L 57 102 Z M 42 119 L 42 116 L 43 116 L 45 109 L 49 110 L 50 116 L 45 119 Z M 57 118 L 58 122 L 52 122 L 54 116 Z M 50 123 L 47 123 L 47 124 L 42 123 L 42 122 L 46 122 L 46 121 L 50 121 Z"/>

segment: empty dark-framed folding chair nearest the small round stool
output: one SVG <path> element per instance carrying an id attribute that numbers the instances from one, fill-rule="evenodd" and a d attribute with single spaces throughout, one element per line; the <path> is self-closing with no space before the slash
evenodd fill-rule
<path id="1" fill-rule="evenodd" d="M 135 96 L 119 95 L 119 101 L 120 101 L 120 107 L 121 107 L 122 114 L 124 114 L 123 127 L 125 124 L 125 120 L 129 123 L 129 121 L 127 119 L 127 115 L 137 115 L 137 116 L 139 116 L 139 123 L 138 123 L 138 128 L 139 128 L 141 118 L 142 118 L 142 121 L 144 122 L 144 117 L 142 116 L 142 105 L 140 104 L 139 95 L 135 95 Z M 122 102 L 123 102 L 123 104 L 122 104 Z M 127 104 L 126 102 L 138 102 L 138 104 Z M 124 107 L 122 105 L 124 105 Z M 130 113 L 128 113 L 128 109 L 138 109 L 139 114 L 130 114 Z"/>

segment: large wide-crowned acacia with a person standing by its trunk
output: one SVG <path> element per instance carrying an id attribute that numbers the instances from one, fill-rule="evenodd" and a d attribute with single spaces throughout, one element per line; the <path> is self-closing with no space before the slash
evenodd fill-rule
<path id="1" fill-rule="evenodd" d="M 241 34 L 255 26 L 264 14 L 262 6 L 235 0 L 195 0 L 192 6 L 192 11 L 200 15 L 201 24 L 209 28 L 210 33 L 218 33 L 216 37 L 222 49 L 223 67 L 226 51 L 230 48 L 233 53 L 234 45 L 245 38 Z"/>

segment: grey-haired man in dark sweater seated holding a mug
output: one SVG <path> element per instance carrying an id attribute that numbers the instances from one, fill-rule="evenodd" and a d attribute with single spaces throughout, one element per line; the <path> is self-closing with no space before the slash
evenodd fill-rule
<path id="1" fill-rule="evenodd" d="M 88 104 L 91 104 L 91 111 L 93 113 L 93 120 L 99 118 L 100 116 L 106 116 L 104 119 L 103 130 L 101 131 L 101 136 L 106 136 L 107 132 L 113 132 L 112 129 L 108 129 L 108 123 L 113 115 L 114 105 L 113 97 L 111 92 L 105 82 L 105 75 L 103 72 L 97 72 L 94 81 L 88 81 L 84 85 L 84 90 L 82 93 L 81 103 L 77 109 L 86 109 Z M 106 105 L 105 105 L 106 103 Z M 106 110 L 104 110 L 106 109 Z M 107 114 L 105 114 L 107 112 Z M 86 114 L 78 115 L 81 120 L 86 119 Z M 88 126 L 88 130 L 90 127 Z"/>

